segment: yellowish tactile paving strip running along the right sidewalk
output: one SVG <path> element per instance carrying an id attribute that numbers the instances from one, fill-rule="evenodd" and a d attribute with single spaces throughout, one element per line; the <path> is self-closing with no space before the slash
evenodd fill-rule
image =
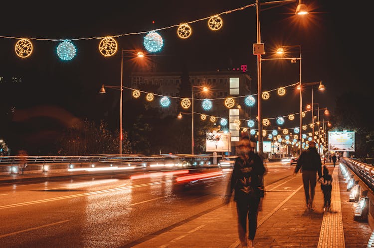
<path id="1" fill-rule="evenodd" d="M 333 190 L 331 192 L 331 212 L 323 215 L 318 248 L 345 248 L 342 207 L 340 204 L 340 188 L 338 178 L 339 166 L 333 171 Z"/>

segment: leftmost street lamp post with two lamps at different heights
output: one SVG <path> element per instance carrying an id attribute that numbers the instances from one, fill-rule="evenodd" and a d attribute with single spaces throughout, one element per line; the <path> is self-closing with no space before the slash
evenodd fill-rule
<path id="1" fill-rule="evenodd" d="M 121 91 L 120 95 L 120 135 L 119 135 L 119 154 L 122 155 L 122 97 L 123 97 L 123 54 L 124 52 L 129 52 L 132 54 L 130 57 L 138 57 L 138 58 L 143 58 L 144 53 L 138 49 L 122 49 L 121 50 L 121 86 L 109 86 L 105 85 L 108 88 L 113 88 L 113 89 L 119 89 Z M 100 93 L 106 93 L 104 84 L 102 84 L 101 89 L 99 91 Z"/>

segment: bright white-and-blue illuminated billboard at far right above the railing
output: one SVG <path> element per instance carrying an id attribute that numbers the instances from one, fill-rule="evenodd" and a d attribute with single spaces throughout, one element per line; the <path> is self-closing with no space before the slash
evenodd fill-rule
<path id="1" fill-rule="evenodd" d="M 355 132 L 329 132 L 329 151 L 355 152 Z"/>

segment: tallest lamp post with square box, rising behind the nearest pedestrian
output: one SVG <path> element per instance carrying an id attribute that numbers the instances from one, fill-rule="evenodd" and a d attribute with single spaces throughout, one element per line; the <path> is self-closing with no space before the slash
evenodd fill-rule
<path id="1" fill-rule="evenodd" d="M 257 56 L 257 116 L 258 116 L 258 153 L 262 155 L 262 104 L 261 104 L 261 92 L 262 92 L 262 68 L 261 68 L 261 55 L 265 54 L 264 44 L 261 43 L 261 28 L 260 28 L 260 5 L 271 5 L 271 4 L 278 4 L 277 6 L 281 6 L 284 4 L 295 2 L 295 0 L 278 0 L 278 1 L 269 1 L 260 3 L 260 0 L 256 0 L 256 27 L 257 27 L 257 43 L 253 44 L 253 54 Z M 272 6 L 269 8 L 277 7 Z M 266 10 L 266 9 L 262 9 Z M 296 8 L 295 14 L 297 15 L 304 15 L 308 14 L 307 6 L 299 0 L 298 6 Z M 300 81 L 301 82 L 301 81 Z M 301 97 L 300 97 L 301 101 Z M 300 103 L 301 105 L 301 103 Z M 300 113 L 301 114 L 301 113 Z M 300 131 L 301 132 L 301 131 Z M 300 140 L 301 141 L 301 140 Z M 300 146 L 301 147 L 301 146 Z M 301 149 L 300 149 L 301 152 Z"/>

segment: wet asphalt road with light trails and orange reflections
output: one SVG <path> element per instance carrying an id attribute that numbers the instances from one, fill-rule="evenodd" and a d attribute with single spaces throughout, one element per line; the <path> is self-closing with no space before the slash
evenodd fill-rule
<path id="1" fill-rule="evenodd" d="M 265 187 L 291 176 L 294 166 L 267 168 Z M 220 207 L 229 175 L 226 168 L 194 183 L 172 174 L 111 174 L 2 184 L 0 247 L 131 247 Z"/>

